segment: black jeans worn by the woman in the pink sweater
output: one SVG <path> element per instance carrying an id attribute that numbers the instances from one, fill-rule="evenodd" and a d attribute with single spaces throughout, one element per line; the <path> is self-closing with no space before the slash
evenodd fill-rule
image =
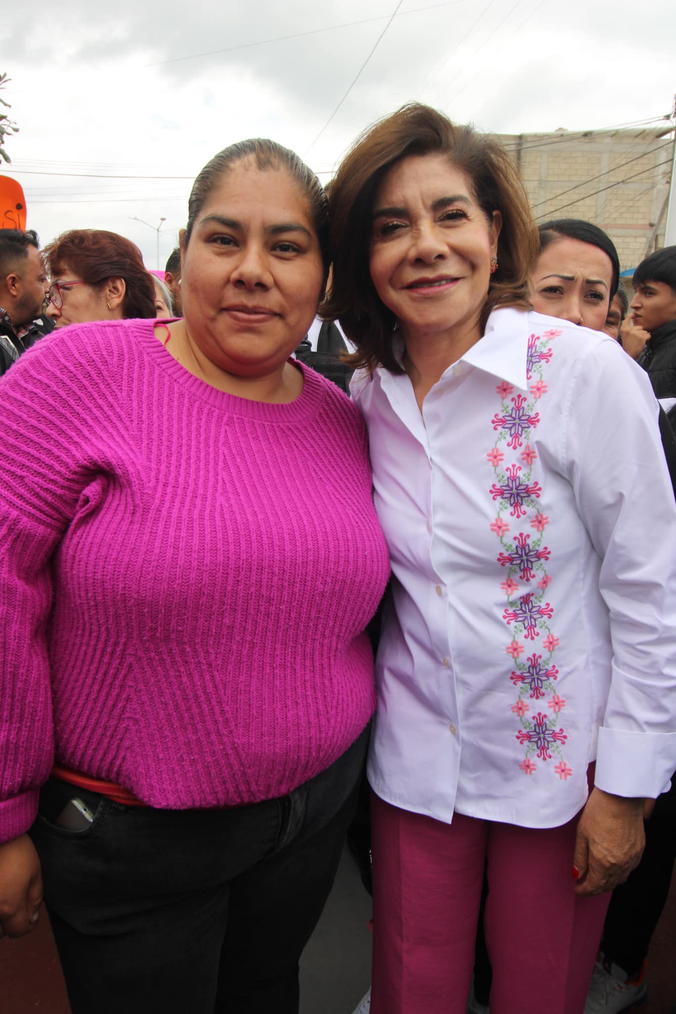
<path id="1" fill-rule="evenodd" d="M 30 835 L 73 1014 L 297 1014 L 369 730 L 289 796 L 220 810 L 122 806 L 51 779 Z M 56 826 L 65 803 L 94 812 Z"/>

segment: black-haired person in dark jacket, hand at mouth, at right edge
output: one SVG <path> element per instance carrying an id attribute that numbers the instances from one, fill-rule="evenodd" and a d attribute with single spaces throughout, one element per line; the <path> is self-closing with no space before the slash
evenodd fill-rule
<path id="1" fill-rule="evenodd" d="M 676 246 L 642 261 L 633 288 L 632 322 L 622 324 L 622 345 L 650 374 L 657 397 L 676 397 Z"/>

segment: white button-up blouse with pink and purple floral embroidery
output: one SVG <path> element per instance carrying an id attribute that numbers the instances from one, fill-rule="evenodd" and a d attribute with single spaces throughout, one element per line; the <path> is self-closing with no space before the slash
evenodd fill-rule
<path id="1" fill-rule="evenodd" d="M 611 339 L 516 309 L 418 408 L 353 379 L 392 560 L 375 792 L 557 826 L 596 785 L 676 768 L 676 506 L 646 374 Z"/>

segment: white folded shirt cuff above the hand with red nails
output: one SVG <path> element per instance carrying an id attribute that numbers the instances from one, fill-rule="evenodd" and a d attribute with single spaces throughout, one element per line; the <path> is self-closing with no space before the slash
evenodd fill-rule
<path id="1" fill-rule="evenodd" d="M 599 729 L 594 784 L 626 798 L 656 799 L 676 768 L 676 732 Z"/>

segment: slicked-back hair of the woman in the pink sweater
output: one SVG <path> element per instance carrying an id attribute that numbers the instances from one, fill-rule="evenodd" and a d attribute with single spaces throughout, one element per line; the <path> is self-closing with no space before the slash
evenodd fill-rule
<path id="1" fill-rule="evenodd" d="M 187 225 L 182 238 L 183 246 L 187 246 L 195 222 L 204 208 L 209 195 L 218 185 L 220 177 L 237 162 L 251 159 L 255 167 L 265 172 L 267 169 L 286 169 L 291 178 L 298 185 L 310 206 L 310 216 L 319 240 L 324 274 L 328 274 L 328 201 L 324 189 L 312 169 L 298 155 L 266 138 L 249 138 L 231 144 L 207 162 L 193 184 L 191 196 L 187 199 Z"/>

